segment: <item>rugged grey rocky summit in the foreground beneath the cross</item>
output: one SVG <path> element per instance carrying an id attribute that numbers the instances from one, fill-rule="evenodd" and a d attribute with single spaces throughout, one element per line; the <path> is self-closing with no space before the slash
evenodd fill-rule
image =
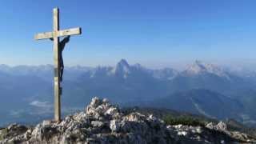
<path id="1" fill-rule="evenodd" d="M 125 113 L 107 99 L 93 98 L 78 114 L 62 122 L 37 126 L 12 124 L 0 130 L 0 143 L 254 143 L 247 134 L 226 129 L 225 122 L 206 126 L 166 125 L 152 114 Z"/>

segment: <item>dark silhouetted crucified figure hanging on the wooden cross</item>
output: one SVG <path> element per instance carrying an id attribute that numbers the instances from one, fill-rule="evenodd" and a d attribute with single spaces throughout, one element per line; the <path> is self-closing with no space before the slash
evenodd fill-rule
<path id="1" fill-rule="evenodd" d="M 54 38 L 50 38 L 51 41 L 54 41 Z M 64 72 L 64 62 L 62 57 L 62 52 L 65 48 L 67 42 L 70 42 L 70 35 L 66 38 L 63 38 L 61 42 L 58 43 L 58 55 L 59 55 L 59 69 L 60 69 L 60 78 L 59 81 L 62 82 L 63 72 Z"/>

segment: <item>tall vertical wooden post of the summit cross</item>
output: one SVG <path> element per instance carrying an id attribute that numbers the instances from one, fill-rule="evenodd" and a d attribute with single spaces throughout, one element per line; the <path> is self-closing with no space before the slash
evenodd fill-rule
<path id="1" fill-rule="evenodd" d="M 57 122 L 61 120 L 61 87 L 59 82 L 59 38 L 58 38 L 58 30 L 59 30 L 59 11 L 58 8 L 54 8 L 54 119 Z"/>

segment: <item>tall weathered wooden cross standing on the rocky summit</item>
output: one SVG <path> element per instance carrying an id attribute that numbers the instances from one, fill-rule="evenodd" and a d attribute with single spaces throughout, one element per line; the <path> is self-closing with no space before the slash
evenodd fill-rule
<path id="1" fill-rule="evenodd" d="M 56 122 L 61 121 L 61 94 L 60 86 L 60 53 L 59 53 L 59 37 L 81 34 L 81 28 L 73 28 L 68 30 L 59 30 L 59 11 L 54 8 L 54 31 L 36 34 L 34 39 L 54 39 L 54 119 Z"/>

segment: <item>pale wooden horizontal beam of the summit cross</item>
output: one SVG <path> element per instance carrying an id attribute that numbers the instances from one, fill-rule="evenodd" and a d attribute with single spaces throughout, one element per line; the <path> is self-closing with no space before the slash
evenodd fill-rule
<path id="1" fill-rule="evenodd" d="M 64 36 L 68 36 L 68 35 L 78 35 L 81 33 L 82 33 L 81 28 L 77 27 L 77 28 L 72 28 L 72 29 L 67 29 L 67 30 L 58 30 L 57 34 L 55 32 L 46 32 L 46 33 L 36 34 L 34 36 L 34 39 L 35 40 L 49 39 L 49 38 L 54 38 L 54 37 L 64 37 Z"/>

